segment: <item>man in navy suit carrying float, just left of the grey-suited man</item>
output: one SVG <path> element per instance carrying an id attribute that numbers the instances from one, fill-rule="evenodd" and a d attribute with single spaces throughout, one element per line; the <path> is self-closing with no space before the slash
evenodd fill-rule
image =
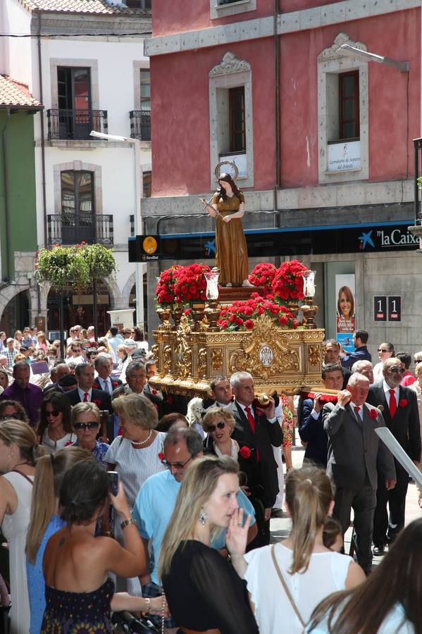
<path id="1" fill-rule="evenodd" d="M 328 390 L 342 390 L 343 373 L 340 363 L 328 363 L 323 366 L 322 378 L 323 384 Z M 306 442 L 304 458 L 325 468 L 327 466 L 328 437 L 323 423 L 322 399 L 321 392 L 317 392 L 314 399 L 304 399 L 297 422 L 300 440 Z"/>

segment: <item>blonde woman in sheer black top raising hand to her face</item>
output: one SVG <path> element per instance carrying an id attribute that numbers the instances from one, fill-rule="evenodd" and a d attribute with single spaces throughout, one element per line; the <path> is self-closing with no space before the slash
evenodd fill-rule
<path id="1" fill-rule="evenodd" d="M 159 575 L 180 633 L 258 633 L 244 581 L 210 547 L 211 533 L 218 529 L 228 529 L 229 551 L 246 547 L 250 516 L 242 528 L 237 471 L 228 456 L 204 456 L 192 461 L 182 481 L 159 557 Z M 239 526 L 232 535 L 233 521 Z"/>

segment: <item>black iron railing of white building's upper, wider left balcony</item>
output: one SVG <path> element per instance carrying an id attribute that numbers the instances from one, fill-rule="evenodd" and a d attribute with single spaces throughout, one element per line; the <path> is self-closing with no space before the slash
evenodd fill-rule
<path id="1" fill-rule="evenodd" d="M 108 131 L 106 110 L 47 110 L 48 135 L 54 139 L 89 139 L 89 132 Z"/>

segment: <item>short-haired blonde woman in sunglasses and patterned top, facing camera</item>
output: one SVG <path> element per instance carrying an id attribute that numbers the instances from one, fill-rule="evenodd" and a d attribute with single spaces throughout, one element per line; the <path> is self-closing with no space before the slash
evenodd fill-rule
<path id="1" fill-rule="evenodd" d="M 76 440 L 72 447 L 82 447 L 92 452 L 97 464 L 106 469 L 106 455 L 110 445 L 96 440 L 100 428 L 100 413 L 95 403 L 77 403 L 72 409 L 72 427 Z"/>

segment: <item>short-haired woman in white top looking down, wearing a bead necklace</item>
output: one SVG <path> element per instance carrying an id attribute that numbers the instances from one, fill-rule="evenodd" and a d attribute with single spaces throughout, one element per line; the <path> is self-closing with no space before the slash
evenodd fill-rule
<path id="1" fill-rule="evenodd" d="M 113 440 L 104 461 L 108 471 L 118 472 L 129 508 L 132 509 L 145 480 L 154 473 L 166 470 L 159 457 L 163 452 L 166 434 L 155 430 L 158 423 L 157 411 L 142 394 L 132 392 L 113 399 L 113 410 L 120 419 L 122 435 Z M 123 540 L 123 534 L 118 526 L 117 523 L 115 537 L 120 541 Z M 118 578 L 117 588 L 141 596 L 137 578 Z"/>

